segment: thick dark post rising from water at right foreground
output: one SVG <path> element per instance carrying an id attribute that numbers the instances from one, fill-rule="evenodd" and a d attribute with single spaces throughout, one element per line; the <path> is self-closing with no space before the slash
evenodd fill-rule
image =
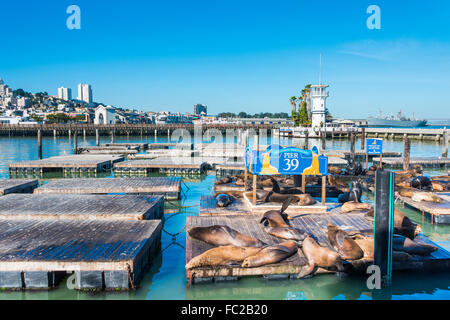
<path id="1" fill-rule="evenodd" d="M 375 174 L 374 265 L 380 268 L 382 286 L 392 283 L 392 247 L 394 237 L 395 174 L 378 170 Z"/>

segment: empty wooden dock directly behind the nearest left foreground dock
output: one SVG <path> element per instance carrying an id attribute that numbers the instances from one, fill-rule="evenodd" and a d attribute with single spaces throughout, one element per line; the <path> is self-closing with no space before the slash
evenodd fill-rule
<path id="1" fill-rule="evenodd" d="M 142 195 L 10 194 L 0 219 L 150 220 L 164 218 L 164 198 Z"/>

